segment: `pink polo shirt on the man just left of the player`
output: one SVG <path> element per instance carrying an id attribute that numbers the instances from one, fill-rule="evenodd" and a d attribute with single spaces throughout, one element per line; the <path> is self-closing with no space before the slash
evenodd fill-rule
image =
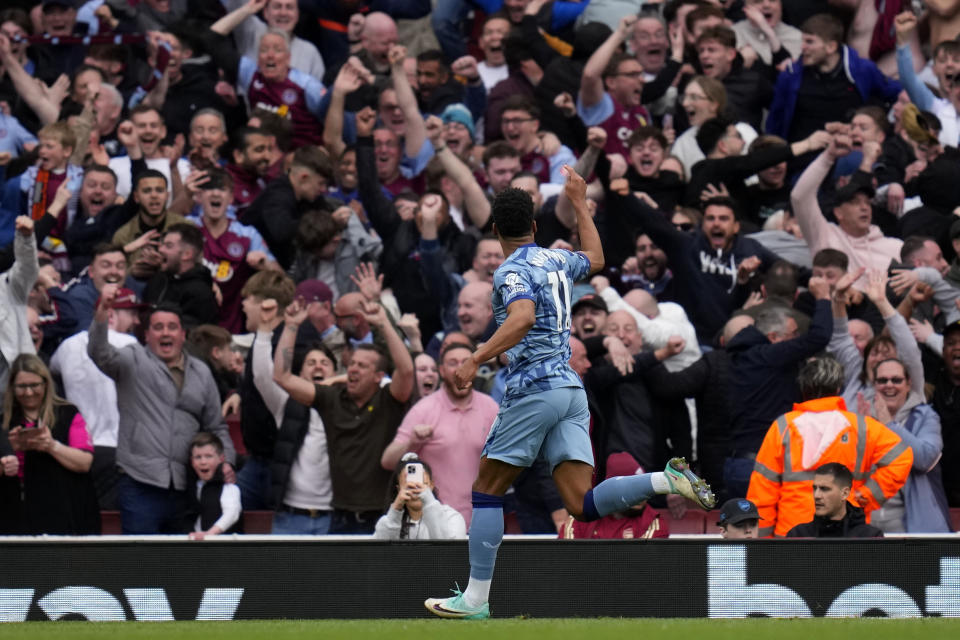
<path id="1" fill-rule="evenodd" d="M 473 515 L 470 492 L 477 479 L 480 452 L 498 409 L 493 398 L 477 391 L 465 409 L 458 409 L 441 387 L 413 405 L 397 430 L 396 439 L 409 440 L 410 450 L 430 465 L 440 501 L 459 511 L 468 528 Z M 418 441 L 413 433 L 418 424 L 433 425 L 433 435 Z"/>

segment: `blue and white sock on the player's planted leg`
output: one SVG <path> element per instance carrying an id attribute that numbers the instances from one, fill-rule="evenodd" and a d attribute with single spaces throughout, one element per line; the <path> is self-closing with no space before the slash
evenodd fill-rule
<path id="1" fill-rule="evenodd" d="M 470 521 L 470 582 L 463 598 L 469 607 L 479 607 L 490 596 L 493 566 L 503 540 L 503 497 L 473 492 Z"/>

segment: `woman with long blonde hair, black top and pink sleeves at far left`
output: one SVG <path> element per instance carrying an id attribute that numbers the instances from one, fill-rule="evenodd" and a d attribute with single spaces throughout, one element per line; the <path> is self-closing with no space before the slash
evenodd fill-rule
<path id="1" fill-rule="evenodd" d="M 35 355 L 21 354 L 10 367 L 2 432 L 19 462 L 22 502 L 5 509 L 19 514 L 19 532 L 100 533 L 89 475 L 93 442 L 86 421 L 74 405 L 57 396 L 50 370 Z"/>

